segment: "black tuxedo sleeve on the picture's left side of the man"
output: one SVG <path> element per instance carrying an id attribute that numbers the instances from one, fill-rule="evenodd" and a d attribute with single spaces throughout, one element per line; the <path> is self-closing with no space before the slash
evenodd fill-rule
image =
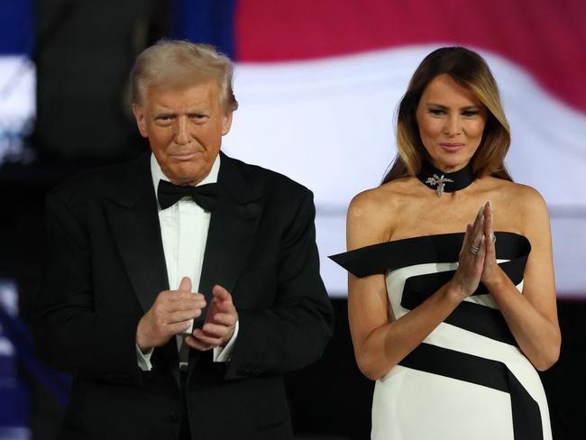
<path id="1" fill-rule="evenodd" d="M 140 316 L 124 307 L 98 312 L 95 237 L 83 204 L 72 204 L 72 198 L 58 192 L 46 201 L 46 261 L 33 326 L 38 352 L 50 366 L 80 379 L 140 382 L 134 348 Z"/>

